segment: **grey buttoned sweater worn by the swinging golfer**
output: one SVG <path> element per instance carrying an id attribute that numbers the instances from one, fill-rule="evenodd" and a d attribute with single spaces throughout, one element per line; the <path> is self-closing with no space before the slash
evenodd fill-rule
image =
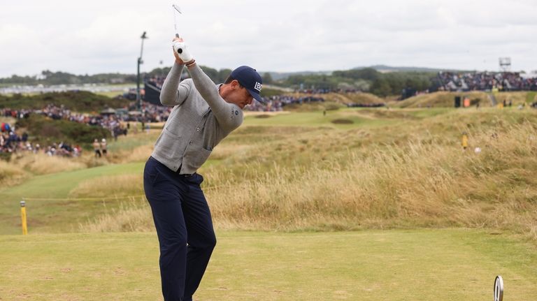
<path id="1" fill-rule="evenodd" d="M 174 64 L 162 85 L 160 102 L 173 106 L 151 156 L 173 171 L 192 174 L 224 137 L 243 123 L 243 110 L 227 103 L 220 86 L 194 66 L 180 81 L 184 65 Z"/>

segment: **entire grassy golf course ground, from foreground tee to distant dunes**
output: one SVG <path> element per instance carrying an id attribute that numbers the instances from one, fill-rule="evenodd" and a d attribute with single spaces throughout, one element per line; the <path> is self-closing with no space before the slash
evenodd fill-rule
<path id="1" fill-rule="evenodd" d="M 537 300 L 533 98 L 245 113 L 199 170 L 217 245 L 194 300 L 486 301 L 496 275 Z M 143 191 L 162 126 L 106 158 L 0 162 L 0 300 L 162 300 Z"/>

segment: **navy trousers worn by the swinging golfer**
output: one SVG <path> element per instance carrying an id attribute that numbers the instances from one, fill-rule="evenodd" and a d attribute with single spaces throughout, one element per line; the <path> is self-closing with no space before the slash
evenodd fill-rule
<path id="1" fill-rule="evenodd" d="M 160 246 L 165 301 L 191 301 L 216 244 L 201 175 L 179 175 L 150 157 L 143 189 L 151 206 Z"/>

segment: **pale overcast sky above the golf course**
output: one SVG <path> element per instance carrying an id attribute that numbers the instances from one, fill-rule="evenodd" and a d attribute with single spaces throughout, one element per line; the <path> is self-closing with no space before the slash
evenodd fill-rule
<path id="1" fill-rule="evenodd" d="M 171 66 L 175 22 L 201 65 L 260 72 L 419 66 L 537 71 L 535 0 L 25 0 L 0 3 L 0 77 Z"/>

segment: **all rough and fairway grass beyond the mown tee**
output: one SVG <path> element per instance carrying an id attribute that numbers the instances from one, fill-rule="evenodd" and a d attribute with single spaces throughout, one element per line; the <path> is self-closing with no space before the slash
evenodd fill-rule
<path id="1" fill-rule="evenodd" d="M 331 119 L 357 122 L 336 125 Z M 248 116 L 200 172 L 221 229 L 461 226 L 536 239 L 534 122 L 532 110 L 496 108 Z M 463 131 L 480 154 L 462 152 Z M 17 233 L 21 198 L 28 200 L 31 228 L 41 233 L 152 229 L 140 175 L 157 135 L 154 130 L 111 143 L 114 155 L 106 166 L 3 189 L 1 233 Z"/>

